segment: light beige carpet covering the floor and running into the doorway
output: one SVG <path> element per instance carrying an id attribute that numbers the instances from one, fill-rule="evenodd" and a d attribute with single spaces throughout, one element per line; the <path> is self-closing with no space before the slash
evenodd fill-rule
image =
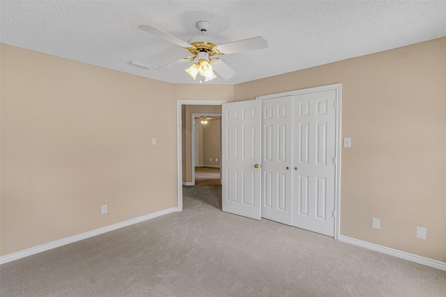
<path id="1" fill-rule="evenodd" d="M 184 211 L 1 265 L 1 296 L 446 296 L 446 273 L 269 220 Z"/>

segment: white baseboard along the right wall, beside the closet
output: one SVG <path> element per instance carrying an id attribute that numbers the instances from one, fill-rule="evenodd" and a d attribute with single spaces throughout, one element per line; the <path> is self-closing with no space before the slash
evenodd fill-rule
<path id="1" fill-rule="evenodd" d="M 446 271 L 446 263 L 421 257 L 417 254 L 410 254 L 408 252 L 403 252 L 401 250 L 394 250 L 392 248 L 386 248 L 383 245 L 376 245 L 374 243 L 369 243 L 367 241 L 360 241 L 359 239 L 351 238 L 344 235 L 339 235 L 339 241 L 344 241 L 344 243 L 350 243 L 352 245 L 357 245 L 362 248 L 367 248 L 369 250 L 374 250 L 376 252 L 382 252 L 383 254 L 390 254 L 390 256 L 397 257 L 400 259 L 415 262 L 417 264 L 422 264 L 432 268 L 439 269 L 440 271 Z"/>

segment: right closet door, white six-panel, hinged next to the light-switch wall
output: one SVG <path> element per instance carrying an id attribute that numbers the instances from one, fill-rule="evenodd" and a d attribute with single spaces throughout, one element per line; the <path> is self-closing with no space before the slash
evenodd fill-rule
<path id="1" fill-rule="evenodd" d="M 293 96 L 293 226 L 334 236 L 336 90 Z"/>

